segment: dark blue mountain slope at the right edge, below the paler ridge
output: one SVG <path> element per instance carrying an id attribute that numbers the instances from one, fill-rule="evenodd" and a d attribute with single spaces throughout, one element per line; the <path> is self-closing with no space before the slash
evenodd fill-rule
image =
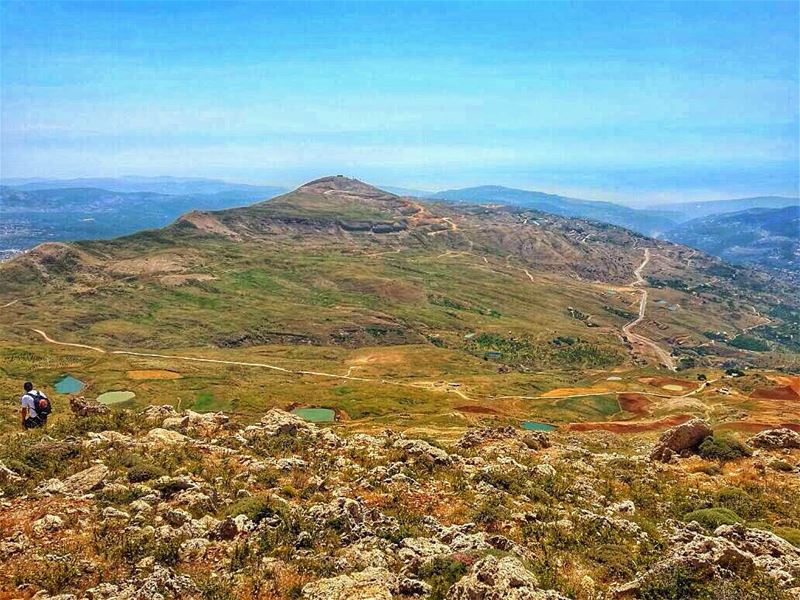
<path id="1" fill-rule="evenodd" d="M 751 208 L 681 223 L 664 237 L 725 260 L 800 277 L 800 206 Z"/>

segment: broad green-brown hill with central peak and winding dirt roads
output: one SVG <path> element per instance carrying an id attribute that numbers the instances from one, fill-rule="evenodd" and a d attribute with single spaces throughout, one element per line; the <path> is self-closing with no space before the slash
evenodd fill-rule
<path id="1" fill-rule="evenodd" d="M 753 382 L 769 386 L 764 369 L 797 368 L 791 345 L 760 336 L 787 326 L 759 315 L 787 305 L 790 288 L 726 269 L 613 226 L 323 178 L 5 263 L 0 385 L 12 395 L 33 368 L 45 382 L 71 373 L 88 396 L 130 391 L 128 405 L 325 407 L 348 427 L 446 435 L 486 420 L 621 431 L 692 414 L 795 421 L 796 403 L 750 397 Z M 708 331 L 765 347 L 709 344 Z M 731 367 L 748 374 L 726 381 Z M 180 377 L 121 375 L 147 371 Z M 675 390 L 643 383 L 675 371 Z"/>

